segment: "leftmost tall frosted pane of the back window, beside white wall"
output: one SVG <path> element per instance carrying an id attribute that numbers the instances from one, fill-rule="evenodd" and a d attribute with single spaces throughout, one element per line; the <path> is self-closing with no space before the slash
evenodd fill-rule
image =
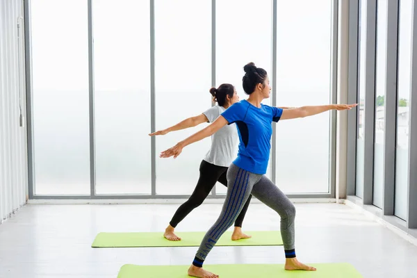
<path id="1" fill-rule="evenodd" d="M 34 193 L 89 195 L 87 1 L 31 4 Z"/>

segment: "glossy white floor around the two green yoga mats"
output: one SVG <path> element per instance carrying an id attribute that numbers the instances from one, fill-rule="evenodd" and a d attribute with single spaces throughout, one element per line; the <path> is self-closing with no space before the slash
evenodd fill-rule
<path id="1" fill-rule="evenodd" d="M 125 263 L 189 265 L 197 247 L 93 249 L 100 231 L 163 231 L 178 204 L 27 205 L 0 225 L 0 277 L 117 277 Z M 296 251 L 305 263 L 347 262 L 363 277 L 417 277 L 417 247 L 343 204 L 296 204 Z M 178 231 L 206 231 L 221 204 L 204 204 Z M 251 204 L 244 229 L 279 229 Z M 284 263 L 278 247 L 215 247 L 206 264 Z"/>

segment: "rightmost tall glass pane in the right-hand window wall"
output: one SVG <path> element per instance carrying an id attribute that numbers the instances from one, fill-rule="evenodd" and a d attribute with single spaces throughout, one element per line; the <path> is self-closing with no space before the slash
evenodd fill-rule
<path id="1" fill-rule="evenodd" d="M 398 33 L 398 108 L 397 149 L 395 156 L 395 211 L 403 220 L 407 219 L 408 205 L 408 160 L 411 90 L 411 24 L 413 1 L 400 1 L 400 27 Z"/>

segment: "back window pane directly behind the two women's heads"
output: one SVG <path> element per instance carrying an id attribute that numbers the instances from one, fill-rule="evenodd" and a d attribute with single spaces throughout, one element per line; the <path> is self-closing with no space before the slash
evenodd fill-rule
<path id="1" fill-rule="evenodd" d="M 254 15 L 262 16 L 253 19 Z M 261 27 L 260 27 L 261 26 Z M 231 83 L 240 99 L 243 91 L 243 67 L 253 62 L 272 74 L 272 1 L 222 0 L 216 2 L 216 80 Z M 272 81 L 272 76 L 270 76 Z M 273 86 L 273 84 L 271 83 Z M 263 104 L 270 105 L 271 99 Z M 237 154 L 237 150 L 236 150 Z M 270 157 L 271 161 L 272 156 Z M 270 163 L 269 163 L 270 166 Z M 270 170 L 266 174 L 270 177 Z M 218 183 L 216 193 L 226 193 Z"/>

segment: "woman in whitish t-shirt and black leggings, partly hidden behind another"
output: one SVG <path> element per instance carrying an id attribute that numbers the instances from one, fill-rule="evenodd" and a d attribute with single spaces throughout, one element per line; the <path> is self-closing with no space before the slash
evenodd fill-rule
<path id="1" fill-rule="evenodd" d="M 217 101 L 218 105 L 209 108 L 201 115 L 189 117 L 167 129 L 151 133 L 149 136 L 165 135 L 171 131 L 187 129 L 204 122 L 214 122 L 227 108 L 239 101 L 236 90 L 231 84 L 222 84 L 217 89 L 211 88 L 210 93 L 213 95 L 213 101 Z M 206 199 L 217 181 L 224 186 L 227 186 L 227 168 L 236 156 L 237 145 L 238 131 L 235 124 L 224 126 L 211 136 L 210 150 L 199 167 L 200 175 L 197 186 L 195 186 L 195 190 L 190 198 L 185 203 L 181 204 L 174 213 L 170 224 L 167 229 L 165 229 L 165 238 L 174 241 L 181 240 L 181 238 L 174 234 L 174 229 L 177 227 L 177 224 L 186 218 L 188 213 L 193 211 L 194 208 L 197 208 L 197 206 L 204 202 L 204 199 Z M 243 206 L 242 211 L 240 211 L 240 214 L 236 219 L 234 232 L 231 236 L 232 240 L 251 237 L 242 232 L 242 222 L 243 218 L 245 218 L 247 207 L 250 204 L 250 199 L 251 197 L 247 199 L 245 206 Z"/>

